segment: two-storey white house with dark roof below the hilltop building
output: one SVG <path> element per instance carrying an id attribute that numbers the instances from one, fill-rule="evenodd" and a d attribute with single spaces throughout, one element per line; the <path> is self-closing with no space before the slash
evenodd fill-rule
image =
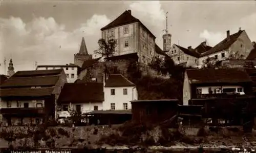
<path id="1" fill-rule="evenodd" d="M 103 80 L 103 110 L 130 110 L 130 101 L 138 99 L 135 84 L 121 74 L 106 75 Z"/>

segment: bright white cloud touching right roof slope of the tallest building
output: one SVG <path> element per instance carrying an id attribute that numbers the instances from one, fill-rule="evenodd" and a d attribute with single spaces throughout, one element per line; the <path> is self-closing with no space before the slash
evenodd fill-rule
<path id="1" fill-rule="evenodd" d="M 132 15 L 138 18 L 157 38 L 158 44 L 162 44 L 162 31 L 165 28 L 165 12 L 161 8 L 160 1 L 136 1 L 130 5 Z"/>

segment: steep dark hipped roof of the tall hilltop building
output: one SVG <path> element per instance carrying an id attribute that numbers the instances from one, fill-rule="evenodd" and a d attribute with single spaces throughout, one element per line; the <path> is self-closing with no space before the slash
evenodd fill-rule
<path id="1" fill-rule="evenodd" d="M 141 21 L 134 17 L 132 15 L 131 12 L 129 12 L 131 10 L 126 10 L 124 11 L 120 16 L 118 16 L 116 19 L 114 19 L 110 24 L 106 25 L 105 27 L 101 28 L 100 30 L 106 30 L 106 29 L 110 29 L 110 28 L 115 28 L 115 27 L 119 27 L 119 26 L 123 26 L 123 25 L 127 25 L 127 24 L 132 24 L 132 23 L 140 23 L 148 32 L 150 32 L 152 34 L 152 32 L 150 30 L 148 30 L 146 28 L 146 26 L 144 26 Z M 152 34 L 154 36 L 154 34 Z M 156 38 L 156 36 L 154 36 L 154 38 Z"/>

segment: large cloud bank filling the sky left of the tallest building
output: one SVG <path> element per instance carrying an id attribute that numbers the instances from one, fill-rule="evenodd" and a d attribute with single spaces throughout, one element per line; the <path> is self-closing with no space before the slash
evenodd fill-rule
<path id="1" fill-rule="evenodd" d="M 9 62 L 12 55 L 15 70 L 34 69 L 38 64 L 65 64 L 74 62 L 82 37 L 89 53 L 97 49 L 100 28 L 110 23 L 106 15 L 94 14 L 78 29 L 67 31 L 53 17 L 37 17 L 28 23 L 19 17 L 0 18 L 0 63 Z M 7 63 L 8 63 L 7 62 Z M 0 73 L 4 68 L 0 66 Z"/>

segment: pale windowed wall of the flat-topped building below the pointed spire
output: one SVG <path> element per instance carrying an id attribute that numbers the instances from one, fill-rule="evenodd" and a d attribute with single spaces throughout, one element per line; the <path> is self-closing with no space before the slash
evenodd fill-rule
<path id="1" fill-rule="evenodd" d="M 48 68 L 48 69 L 46 69 L 46 68 Z M 68 70 L 66 68 L 68 68 Z M 72 68 L 73 68 L 73 70 L 72 70 Z M 37 67 L 36 68 L 36 70 L 53 70 L 53 69 L 63 69 L 66 75 L 69 74 L 69 76 L 67 77 L 68 83 L 74 83 L 78 78 L 77 67 L 74 67 L 74 66 L 69 67 L 69 65 L 65 65 L 63 67 L 53 67 L 52 65 L 47 65 L 47 67 Z M 71 74 L 74 74 L 74 78 L 71 78 Z"/>

